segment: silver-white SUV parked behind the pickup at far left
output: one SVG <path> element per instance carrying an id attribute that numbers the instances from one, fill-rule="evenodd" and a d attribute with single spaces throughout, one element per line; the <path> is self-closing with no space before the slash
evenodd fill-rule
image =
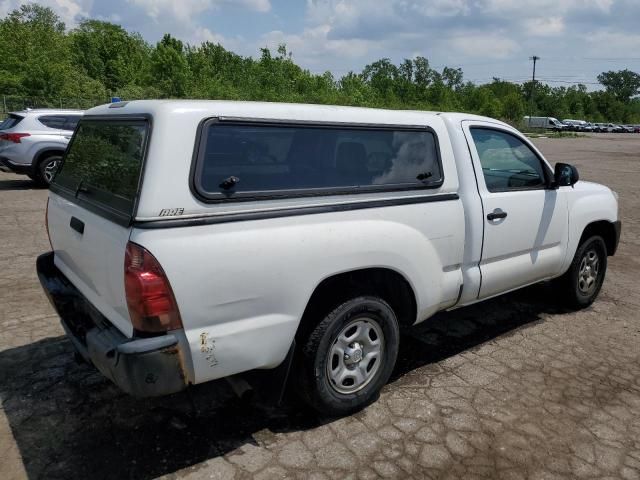
<path id="1" fill-rule="evenodd" d="M 0 123 L 0 170 L 51 183 L 82 110 L 12 112 Z"/>

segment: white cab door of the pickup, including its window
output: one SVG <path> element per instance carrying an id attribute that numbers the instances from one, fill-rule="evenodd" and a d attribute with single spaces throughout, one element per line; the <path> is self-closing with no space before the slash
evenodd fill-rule
<path id="1" fill-rule="evenodd" d="M 484 214 L 478 298 L 559 273 L 568 239 L 566 195 L 524 138 L 490 122 L 463 122 Z"/>

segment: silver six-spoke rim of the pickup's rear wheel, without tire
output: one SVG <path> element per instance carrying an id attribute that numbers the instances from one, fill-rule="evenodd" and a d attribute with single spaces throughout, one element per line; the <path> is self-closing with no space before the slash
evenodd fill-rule
<path id="1" fill-rule="evenodd" d="M 343 395 L 366 387 L 383 363 L 384 333 L 368 317 L 349 322 L 333 340 L 327 354 L 329 384 Z"/>

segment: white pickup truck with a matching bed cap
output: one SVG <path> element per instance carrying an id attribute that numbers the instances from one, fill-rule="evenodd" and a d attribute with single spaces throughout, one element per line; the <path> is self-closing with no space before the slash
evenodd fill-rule
<path id="1" fill-rule="evenodd" d="M 590 305 L 620 236 L 614 192 L 497 120 L 225 101 L 87 111 L 47 225 L 41 283 L 122 389 L 275 369 L 332 415 L 438 311 L 551 279 Z"/>

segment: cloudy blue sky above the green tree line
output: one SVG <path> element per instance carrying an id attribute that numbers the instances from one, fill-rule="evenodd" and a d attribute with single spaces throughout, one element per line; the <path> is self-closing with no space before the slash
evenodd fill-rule
<path id="1" fill-rule="evenodd" d="M 0 0 L 0 16 L 23 0 Z M 640 0 L 41 0 L 73 28 L 97 18 L 149 42 L 164 33 L 213 41 L 241 55 L 287 45 L 294 61 L 340 77 L 380 58 L 424 56 L 460 67 L 475 83 L 493 77 L 553 86 L 628 68 L 640 73 Z"/>

